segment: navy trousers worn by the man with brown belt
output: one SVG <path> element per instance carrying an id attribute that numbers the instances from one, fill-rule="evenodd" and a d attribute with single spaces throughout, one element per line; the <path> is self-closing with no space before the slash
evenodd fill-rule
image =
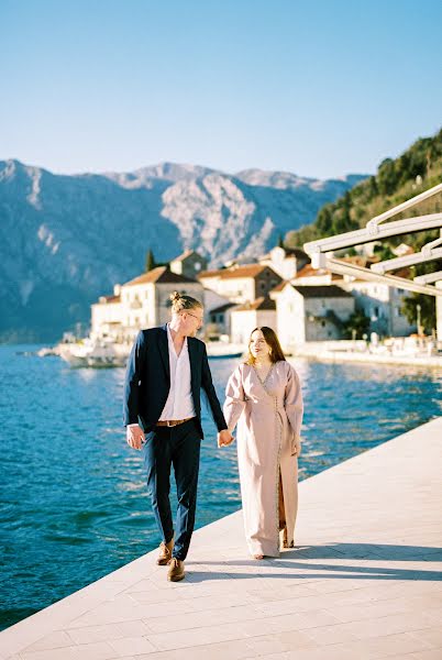
<path id="1" fill-rule="evenodd" d="M 186 559 L 194 531 L 200 447 L 201 438 L 194 419 L 176 427 L 156 427 L 146 433 L 143 447 L 147 492 L 165 543 L 174 536 L 169 501 L 174 466 L 178 509 L 173 557 L 180 560 Z"/>

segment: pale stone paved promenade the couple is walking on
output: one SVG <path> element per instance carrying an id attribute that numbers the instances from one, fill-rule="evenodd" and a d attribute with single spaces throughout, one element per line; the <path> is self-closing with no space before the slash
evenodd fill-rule
<path id="1" fill-rule="evenodd" d="M 296 542 L 254 561 L 228 516 L 185 582 L 151 552 L 1 632 L 0 658 L 441 660 L 442 417 L 302 482 Z"/>

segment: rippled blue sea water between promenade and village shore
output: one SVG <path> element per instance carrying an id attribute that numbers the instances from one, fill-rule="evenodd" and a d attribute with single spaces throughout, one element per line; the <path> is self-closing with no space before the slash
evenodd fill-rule
<path id="1" fill-rule="evenodd" d="M 70 370 L 18 350 L 0 346 L 2 627 L 159 542 L 141 454 L 124 441 L 124 371 Z M 441 414 L 440 372 L 294 363 L 306 399 L 301 479 Z M 221 400 L 235 364 L 211 363 Z M 240 507 L 235 449 L 217 448 L 207 414 L 203 428 L 197 526 Z"/>

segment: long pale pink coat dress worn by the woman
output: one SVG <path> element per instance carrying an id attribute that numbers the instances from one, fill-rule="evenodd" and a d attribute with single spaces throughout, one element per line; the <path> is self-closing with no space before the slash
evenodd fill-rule
<path id="1" fill-rule="evenodd" d="M 279 474 L 288 543 L 294 540 L 298 506 L 295 438 L 302 424 L 302 393 L 288 362 L 273 365 L 263 386 L 255 369 L 240 364 L 225 389 L 224 417 L 237 424 L 237 463 L 245 536 L 251 554 L 279 556 Z"/>

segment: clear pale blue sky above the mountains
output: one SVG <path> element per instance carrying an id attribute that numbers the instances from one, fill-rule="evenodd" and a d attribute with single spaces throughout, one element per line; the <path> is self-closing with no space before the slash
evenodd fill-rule
<path id="1" fill-rule="evenodd" d="M 442 124 L 440 0 L 0 0 L 0 158 L 336 177 Z"/>

